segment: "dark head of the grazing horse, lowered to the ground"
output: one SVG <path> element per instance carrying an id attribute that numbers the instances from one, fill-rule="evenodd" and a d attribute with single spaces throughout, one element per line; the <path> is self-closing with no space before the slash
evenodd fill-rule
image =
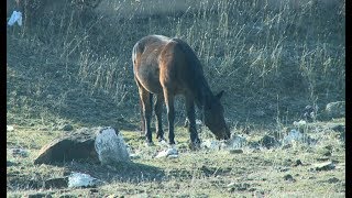
<path id="1" fill-rule="evenodd" d="M 223 107 L 220 102 L 222 94 L 223 91 L 206 101 L 204 109 L 204 119 L 206 125 L 210 129 L 210 131 L 216 135 L 218 140 L 228 140 L 230 139 L 230 130 L 226 124 L 223 118 Z"/>

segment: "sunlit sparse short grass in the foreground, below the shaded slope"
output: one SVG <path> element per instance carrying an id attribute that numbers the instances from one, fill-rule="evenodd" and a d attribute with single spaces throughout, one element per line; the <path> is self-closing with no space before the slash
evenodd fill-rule
<path id="1" fill-rule="evenodd" d="M 290 148 L 272 148 L 253 152 L 243 150 L 243 154 L 230 154 L 229 151 L 189 151 L 179 150 L 179 157 L 174 160 L 153 158 L 152 156 L 161 150 L 158 146 L 145 147 L 141 135 L 134 131 L 121 131 L 125 142 L 132 150 L 141 152 L 140 158 L 133 160 L 135 165 L 121 165 L 116 167 L 99 167 L 90 164 L 66 164 L 65 166 L 33 165 L 33 157 L 37 155 L 38 147 L 26 146 L 21 134 L 31 132 L 31 135 L 38 141 L 36 144 L 44 145 L 54 136 L 48 136 L 47 132 L 28 131 L 18 129 L 11 135 L 8 132 L 8 140 L 19 140 L 16 147 L 22 146 L 30 151 L 29 157 L 12 157 L 8 153 L 8 161 L 19 163 L 8 167 L 9 197 L 15 195 L 34 194 L 31 190 L 33 185 L 40 185 L 48 178 L 62 177 L 64 173 L 70 170 L 80 170 L 95 177 L 108 182 L 97 187 L 95 196 L 119 195 L 119 196 L 152 196 L 158 197 L 224 197 L 252 196 L 254 194 L 264 194 L 264 196 L 305 196 L 315 197 L 344 196 L 345 180 L 345 155 L 344 145 L 337 141 L 333 135 L 319 139 L 319 145 L 308 146 L 297 144 Z M 309 131 L 309 134 L 317 132 Z M 333 133 L 329 130 L 320 133 Z M 258 135 L 258 134 L 256 134 Z M 177 144 L 187 143 L 188 134 L 184 129 L 176 129 Z M 8 142 L 9 143 L 9 142 Z M 8 144 L 9 145 L 9 144 Z M 314 164 L 319 163 L 323 156 L 321 148 L 331 145 L 331 161 L 337 162 L 333 170 L 316 172 L 310 170 Z M 295 162 L 300 160 L 302 165 L 294 166 Z M 285 175 L 292 175 L 295 182 L 285 180 Z M 336 183 L 329 183 L 330 178 L 338 178 Z M 35 182 L 35 183 L 34 183 Z M 230 184 L 232 187 L 228 187 Z M 15 186 L 19 185 L 19 186 Z M 32 185 L 32 186 L 31 186 Z M 245 186 L 244 189 L 241 186 Z M 53 196 L 63 196 L 64 194 L 85 196 L 90 194 L 91 188 L 87 189 L 43 189 L 42 193 L 51 193 Z"/>

